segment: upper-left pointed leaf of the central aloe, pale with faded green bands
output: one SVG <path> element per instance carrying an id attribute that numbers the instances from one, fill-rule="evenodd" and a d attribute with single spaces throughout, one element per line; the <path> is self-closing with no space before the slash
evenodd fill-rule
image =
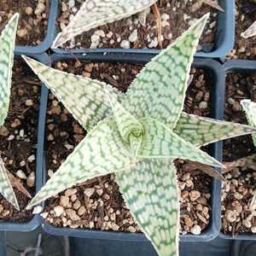
<path id="1" fill-rule="evenodd" d="M 84 129 L 94 127 L 111 113 L 104 89 L 119 95 L 111 85 L 47 67 L 24 55 L 22 57 Z"/>

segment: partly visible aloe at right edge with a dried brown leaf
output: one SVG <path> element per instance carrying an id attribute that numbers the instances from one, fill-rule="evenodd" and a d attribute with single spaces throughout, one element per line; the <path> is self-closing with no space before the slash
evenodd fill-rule
<path id="1" fill-rule="evenodd" d="M 247 120 L 249 125 L 256 127 L 256 102 L 251 102 L 250 100 L 242 100 L 241 106 L 247 115 Z M 256 135 L 252 134 L 253 144 L 256 147 Z M 225 164 L 226 172 L 232 171 L 235 167 L 247 166 L 253 170 L 256 170 L 256 154 L 249 155 L 247 157 L 235 160 Z M 253 195 L 253 200 L 251 202 L 253 207 L 256 206 L 256 190 Z"/>

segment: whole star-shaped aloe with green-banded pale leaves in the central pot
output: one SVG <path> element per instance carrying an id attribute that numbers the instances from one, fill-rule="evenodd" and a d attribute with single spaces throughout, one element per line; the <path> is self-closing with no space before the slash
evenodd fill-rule
<path id="1" fill-rule="evenodd" d="M 189 70 L 207 16 L 143 68 L 126 94 L 24 56 L 88 134 L 28 208 L 89 178 L 115 172 L 131 214 L 159 255 L 177 255 L 178 192 L 173 160 L 221 167 L 199 149 L 256 129 L 183 113 Z M 216 171 L 217 172 L 217 171 Z"/>

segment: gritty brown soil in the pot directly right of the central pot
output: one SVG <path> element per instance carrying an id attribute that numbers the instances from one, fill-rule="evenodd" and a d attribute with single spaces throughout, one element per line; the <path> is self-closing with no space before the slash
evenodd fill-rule
<path id="1" fill-rule="evenodd" d="M 240 101 L 255 101 L 256 73 L 228 74 L 225 98 L 224 119 L 247 124 L 246 114 L 242 111 Z M 255 154 L 253 139 L 250 135 L 224 141 L 224 161 L 238 160 Z M 227 182 L 222 190 L 222 224 L 224 233 L 236 236 L 238 233 L 256 233 L 256 212 L 250 207 L 255 189 L 255 171 L 237 167 L 225 175 Z"/>

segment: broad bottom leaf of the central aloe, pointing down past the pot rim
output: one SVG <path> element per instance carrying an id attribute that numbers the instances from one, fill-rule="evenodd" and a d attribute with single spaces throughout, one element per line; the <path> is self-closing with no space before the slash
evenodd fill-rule
<path id="1" fill-rule="evenodd" d="M 160 256 L 177 256 L 178 193 L 172 161 L 143 160 L 116 181 L 132 216 Z"/>

